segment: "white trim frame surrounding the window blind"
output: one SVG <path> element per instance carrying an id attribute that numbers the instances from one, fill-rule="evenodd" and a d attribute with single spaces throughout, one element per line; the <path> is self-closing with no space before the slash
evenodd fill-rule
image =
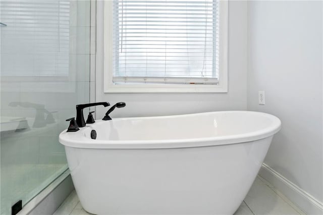
<path id="1" fill-rule="evenodd" d="M 113 83 L 113 1 L 104 1 L 103 92 L 228 92 L 228 2 L 220 1 L 219 83 L 218 84 L 114 84 Z"/>

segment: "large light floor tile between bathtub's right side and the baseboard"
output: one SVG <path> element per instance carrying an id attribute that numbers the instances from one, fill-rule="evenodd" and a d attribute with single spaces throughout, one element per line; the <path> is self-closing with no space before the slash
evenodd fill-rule
<path id="1" fill-rule="evenodd" d="M 244 201 L 254 214 L 299 214 L 258 178 Z"/>

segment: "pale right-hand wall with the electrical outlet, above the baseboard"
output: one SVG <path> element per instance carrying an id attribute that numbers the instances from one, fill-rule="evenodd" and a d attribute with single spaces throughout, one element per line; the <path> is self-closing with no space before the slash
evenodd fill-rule
<path id="1" fill-rule="evenodd" d="M 322 2 L 248 3 L 247 102 L 282 121 L 264 163 L 322 202 Z"/>

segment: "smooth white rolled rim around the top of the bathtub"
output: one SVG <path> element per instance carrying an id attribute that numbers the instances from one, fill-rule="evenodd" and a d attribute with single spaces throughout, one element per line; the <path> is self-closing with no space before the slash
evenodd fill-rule
<path id="1" fill-rule="evenodd" d="M 188 147 L 202 147 L 202 146 L 215 146 L 225 144 L 243 143 L 249 141 L 255 141 L 264 139 L 276 134 L 281 129 L 281 121 L 276 116 L 266 114 L 262 112 L 252 111 L 216 111 L 216 112 L 203 112 L 196 114 L 184 114 L 184 115 L 169 115 L 169 116 L 153 116 L 153 117 L 127 117 L 127 118 L 115 118 L 114 120 L 125 119 L 156 119 L 156 118 L 173 118 L 173 117 L 185 117 L 192 115 L 203 115 L 211 113 L 253 113 L 262 115 L 266 118 L 271 118 L 273 121 L 271 126 L 264 129 L 226 136 L 214 136 L 214 137 L 202 137 L 202 138 L 190 138 L 190 139 L 163 139 L 163 140 L 94 140 L 84 135 L 85 130 L 90 131 L 93 124 L 87 124 L 86 127 L 80 128 L 78 132 L 66 132 L 64 130 L 59 135 L 59 141 L 61 144 L 73 147 L 73 148 L 88 148 L 88 149 L 158 149 L 158 148 L 188 148 Z M 101 122 L 97 120 L 96 122 Z"/>

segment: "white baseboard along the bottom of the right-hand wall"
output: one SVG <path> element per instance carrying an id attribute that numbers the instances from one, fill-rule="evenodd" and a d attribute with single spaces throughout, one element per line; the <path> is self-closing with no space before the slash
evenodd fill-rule
<path id="1" fill-rule="evenodd" d="M 323 214 L 322 202 L 289 181 L 268 165 L 262 164 L 259 175 L 276 187 L 289 200 L 304 210 L 307 214 Z"/>

